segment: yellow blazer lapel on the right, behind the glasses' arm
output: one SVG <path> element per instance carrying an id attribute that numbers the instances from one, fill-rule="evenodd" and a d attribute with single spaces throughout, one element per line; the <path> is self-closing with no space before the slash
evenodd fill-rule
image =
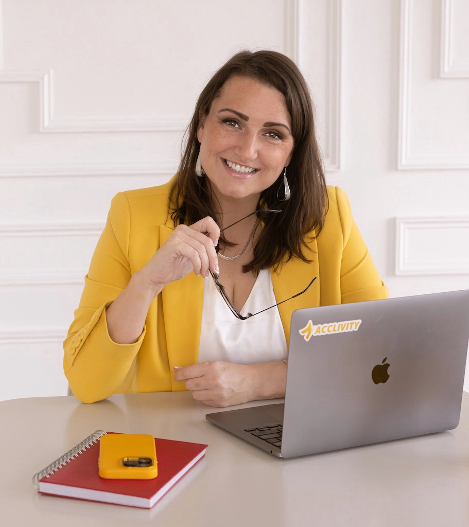
<path id="1" fill-rule="evenodd" d="M 284 326 L 287 345 L 290 341 L 290 321 L 293 311 L 306 307 L 319 306 L 319 260 L 316 240 L 310 242 L 308 246 L 312 250 L 308 255 L 309 259 L 312 260 L 310 263 L 294 258 L 286 264 L 283 264 L 278 269 L 278 272 L 273 270 L 270 271 L 273 291 L 275 292 L 277 302 L 281 302 L 286 298 L 296 295 L 298 292 L 302 291 L 314 277 L 317 277 L 314 284 L 312 284 L 304 294 L 292 298 L 278 306 L 282 325 Z"/>

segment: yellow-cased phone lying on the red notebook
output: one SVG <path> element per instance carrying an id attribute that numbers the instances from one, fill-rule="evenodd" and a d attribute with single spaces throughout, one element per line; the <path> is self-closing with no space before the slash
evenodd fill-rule
<path id="1" fill-rule="evenodd" d="M 152 480 L 158 476 L 155 439 L 148 434 L 105 434 L 98 473 L 111 480 Z"/>

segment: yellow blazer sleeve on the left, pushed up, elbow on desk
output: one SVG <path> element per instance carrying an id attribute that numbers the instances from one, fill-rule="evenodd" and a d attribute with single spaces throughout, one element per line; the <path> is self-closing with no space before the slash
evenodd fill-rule
<path id="1" fill-rule="evenodd" d="M 124 193 L 112 202 L 95 248 L 85 286 L 64 346 L 64 372 L 73 394 L 84 403 L 129 391 L 146 328 L 135 344 L 116 344 L 108 333 L 106 307 L 131 278 L 130 209 Z"/>

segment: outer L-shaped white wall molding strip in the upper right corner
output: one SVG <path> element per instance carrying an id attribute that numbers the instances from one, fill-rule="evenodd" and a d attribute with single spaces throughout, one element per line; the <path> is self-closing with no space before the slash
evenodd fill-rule
<path id="1" fill-rule="evenodd" d="M 398 170 L 464 170 L 469 168 L 469 158 L 418 157 L 410 152 L 411 134 L 411 36 L 413 0 L 401 0 L 400 56 L 399 56 L 399 133 Z"/>

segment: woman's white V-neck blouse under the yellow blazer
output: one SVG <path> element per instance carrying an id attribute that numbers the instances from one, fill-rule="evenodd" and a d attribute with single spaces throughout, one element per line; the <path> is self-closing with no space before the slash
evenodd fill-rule
<path id="1" fill-rule="evenodd" d="M 240 313 L 257 313 L 276 303 L 270 272 L 264 269 Z M 204 280 L 199 363 L 224 360 L 256 364 L 286 358 L 287 341 L 277 307 L 240 320 L 226 305 L 212 277 Z"/>

